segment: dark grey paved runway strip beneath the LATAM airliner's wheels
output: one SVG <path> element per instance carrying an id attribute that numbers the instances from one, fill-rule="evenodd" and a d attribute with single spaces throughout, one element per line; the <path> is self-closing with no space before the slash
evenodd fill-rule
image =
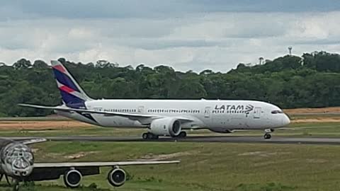
<path id="1" fill-rule="evenodd" d="M 15 140 L 45 138 L 48 141 L 141 141 L 141 142 L 229 142 L 229 143 L 261 143 L 261 144 L 340 144 L 340 138 L 311 138 L 311 137 L 186 137 L 170 138 L 162 137 L 157 140 L 144 140 L 141 137 L 8 137 Z"/>

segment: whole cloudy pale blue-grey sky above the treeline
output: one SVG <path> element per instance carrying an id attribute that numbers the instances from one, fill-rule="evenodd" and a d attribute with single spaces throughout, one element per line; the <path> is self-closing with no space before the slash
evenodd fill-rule
<path id="1" fill-rule="evenodd" d="M 339 0 L 0 0 L 0 62 L 64 57 L 226 72 L 340 52 Z"/>

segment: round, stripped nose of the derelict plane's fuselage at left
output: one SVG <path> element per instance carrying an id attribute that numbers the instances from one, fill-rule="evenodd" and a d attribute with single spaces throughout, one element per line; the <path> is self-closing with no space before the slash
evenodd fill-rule
<path id="1" fill-rule="evenodd" d="M 6 143 L 0 151 L 1 169 L 6 175 L 26 178 L 33 171 L 34 156 L 32 150 L 18 142 Z"/>

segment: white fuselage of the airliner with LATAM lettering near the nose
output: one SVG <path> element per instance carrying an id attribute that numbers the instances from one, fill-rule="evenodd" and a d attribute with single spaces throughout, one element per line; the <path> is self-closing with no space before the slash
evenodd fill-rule
<path id="1" fill-rule="evenodd" d="M 254 100 L 90 100 L 86 109 L 123 112 L 159 117 L 188 117 L 182 129 L 269 129 L 288 125 L 290 120 L 280 108 L 270 103 Z M 280 112 L 275 112 L 280 111 Z M 102 127 L 148 127 L 148 122 L 111 115 L 62 112 L 58 114 L 74 120 Z"/>

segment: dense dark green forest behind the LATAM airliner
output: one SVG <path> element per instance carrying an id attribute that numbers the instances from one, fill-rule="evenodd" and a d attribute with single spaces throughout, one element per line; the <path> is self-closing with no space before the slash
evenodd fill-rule
<path id="1" fill-rule="evenodd" d="M 93 98 L 251 99 L 282 108 L 340 106 L 340 56 L 328 52 L 284 56 L 264 64 L 239 64 L 227 74 L 205 70 L 174 71 L 116 63 L 68 62 L 61 58 Z M 0 65 L 0 117 L 48 115 L 51 111 L 19 108 L 17 103 L 60 104 L 52 71 L 42 60 L 20 59 Z"/>

